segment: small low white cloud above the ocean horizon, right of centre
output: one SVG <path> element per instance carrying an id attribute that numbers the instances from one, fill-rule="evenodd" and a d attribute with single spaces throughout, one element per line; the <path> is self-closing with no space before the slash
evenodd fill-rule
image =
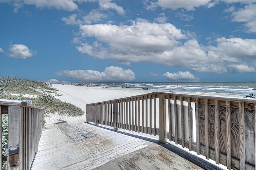
<path id="1" fill-rule="evenodd" d="M 177 81 L 177 82 L 199 82 L 200 79 L 197 78 L 196 76 L 194 76 L 193 74 L 191 74 L 188 71 L 182 72 L 182 71 L 178 71 L 178 72 L 174 72 L 174 73 L 170 73 L 170 72 L 166 72 L 164 74 L 162 74 L 162 76 L 168 78 L 168 80 L 170 81 Z"/>

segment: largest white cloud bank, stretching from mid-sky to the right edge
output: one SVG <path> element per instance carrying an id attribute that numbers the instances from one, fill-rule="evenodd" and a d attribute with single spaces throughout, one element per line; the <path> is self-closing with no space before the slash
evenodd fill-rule
<path id="1" fill-rule="evenodd" d="M 209 45 L 202 45 L 193 32 L 141 18 L 128 25 L 81 24 L 79 33 L 76 49 L 97 59 L 114 59 L 126 65 L 149 62 L 218 74 L 256 71 L 256 39 L 215 36 L 218 38 L 210 39 Z M 86 41 L 91 37 L 94 42 Z"/>

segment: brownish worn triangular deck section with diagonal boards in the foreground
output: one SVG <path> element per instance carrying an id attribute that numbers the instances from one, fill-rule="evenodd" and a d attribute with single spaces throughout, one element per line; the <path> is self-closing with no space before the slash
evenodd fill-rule
<path id="1" fill-rule="evenodd" d="M 152 143 L 148 147 L 142 148 L 103 166 L 96 168 L 97 170 L 123 170 L 123 169 L 133 169 L 133 170 L 156 170 L 156 169 L 196 169 L 200 170 L 202 168 L 192 164 L 189 161 L 180 161 L 182 158 L 170 150 L 161 147 L 158 144 Z"/>

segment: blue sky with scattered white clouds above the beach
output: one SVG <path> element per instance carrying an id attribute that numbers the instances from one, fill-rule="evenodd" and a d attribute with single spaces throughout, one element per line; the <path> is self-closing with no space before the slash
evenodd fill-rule
<path id="1" fill-rule="evenodd" d="M 256 81 L 255 0 L 0 0 L 0 77 Z"/>

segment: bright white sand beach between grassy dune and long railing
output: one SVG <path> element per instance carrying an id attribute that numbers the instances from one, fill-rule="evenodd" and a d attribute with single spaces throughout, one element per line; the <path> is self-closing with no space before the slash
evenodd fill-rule
<path id="1" fill-rule="evenodd" d="M 79 117 L 50 115 L 46 118 L 46 126 L 53 124 L 58 119 L 68 119 L 69 121 L 76 121 L 83 119 L 86 121 L 86 104 L 95 102 L 103 102 L 108 100 L 114 100 L 119 98 L 126 98 L 130 96 L 137 96 L 140 94 L 147 94 L 156 92 L 156 90 L 142 90 L 139 88 L 118 88 L 118 87 L 102 87 L 102 86 L 75 86 L 74 84 L 52 84 L 53 88 L 59 90 L 55 94 L 55 98 L 58 98 L 64 102 L 71 103 L 77 107 L 80 107 L 84 111 L 84 115 Z M 168 90 L 157 90 L 158 92 L 168 92 Z M 180 92 L 184 93 L 184 92 Z M 215 97 L 232 97 L 241 98 L 241 96 L 217 94 L 217 93 L 202 93 L 202 92 L 186 92 L 186 94 L 196 94 L 202 96 L 215 96 Z"/>

